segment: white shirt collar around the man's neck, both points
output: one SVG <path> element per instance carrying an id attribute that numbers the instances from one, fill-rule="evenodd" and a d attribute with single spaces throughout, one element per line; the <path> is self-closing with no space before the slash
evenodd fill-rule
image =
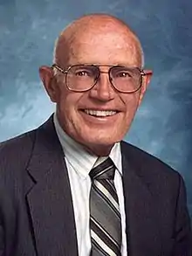
<path id="1" fill-rule="evenodd" d="M 53 115 L 53 123 L 67 161 L 72 165 L 72 168 L 78 172 L 79 176 L 86 178 L 90 170 L 92 170 L 94 163 L 97 161 L 98 156 L 90 154 L 79 142 L 74 141 L 72 137 L 65 133 L 58 122 L 56 113 Z M 114 144 L 109 157 L 122 175 L 120 142 Z"/>

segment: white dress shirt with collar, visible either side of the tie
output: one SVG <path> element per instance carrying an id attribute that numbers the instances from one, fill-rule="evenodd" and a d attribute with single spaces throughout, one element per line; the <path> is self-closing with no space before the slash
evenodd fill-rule
<path id="1" fill-rule="evenodd" d="M 54 114 L 53 121 L 59 142 L 61 143 L 65 153 L 65 162 L 72 190 L 72 204 L 75 217 L 79 256 L 89 256 L 92 246 L 89 226 L 89 195 L 91 190 L 91 179 L 89 172 L 92 170 L 98 156 L 90 155 L 82 145 L 72 140 L 69 135 L 66 135 L 58 123 L 56 114 Z M 120 143 L 116 143 L 113 146 L 109 156 L 113 160 L 116 167 L 114 185 L 117 190 L 120 204 L 122 226 L 121 255 L 127 256 L 126 215 L 122 187 Z"/>

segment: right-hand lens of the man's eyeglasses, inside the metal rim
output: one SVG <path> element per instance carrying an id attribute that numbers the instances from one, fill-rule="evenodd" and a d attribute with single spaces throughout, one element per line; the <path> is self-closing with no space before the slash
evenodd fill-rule
<path id="1" fill-rule="evenodd" d="M 141 71 L 135 67 L 113 66 L 110 77 L 113 86 L 120 92 L 132 93 L 141 86 Z"/>

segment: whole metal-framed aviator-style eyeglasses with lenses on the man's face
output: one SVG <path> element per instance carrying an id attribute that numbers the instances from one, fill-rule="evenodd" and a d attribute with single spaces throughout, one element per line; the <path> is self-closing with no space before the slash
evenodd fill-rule
<path id="1" fill-rule="evenodd" d="M 53 64 L 59 72 L 65 74 L 65 84 L 73 92 L 91 90 L 99 80 L 100 73 L 108 73 L 111 85 L 120 93 L 134 93 L 141 88 L 142 76 L 146 75 L 139 67 L 109 66 L 108 72 L 101 72 L 96 65 L 74 65 L 63 70 Z"/>

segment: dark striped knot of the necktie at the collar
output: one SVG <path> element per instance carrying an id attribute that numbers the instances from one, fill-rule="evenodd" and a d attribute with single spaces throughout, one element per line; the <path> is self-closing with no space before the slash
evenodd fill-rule
<path id="1" fill-rule="evenodd" d="M 108 179 L 113 180 L 114 178 L 115 166 L 113 161 L 108 157 L 104 162 L 99 163 L 99 165 L 93 167 L 89 175 L 91 179 Z"/>

